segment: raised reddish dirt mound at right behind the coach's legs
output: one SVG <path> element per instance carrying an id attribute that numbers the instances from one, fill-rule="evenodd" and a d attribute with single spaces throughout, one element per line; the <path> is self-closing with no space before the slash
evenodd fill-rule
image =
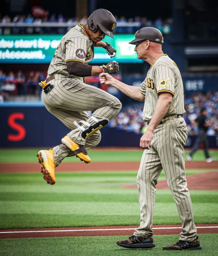
<path id="1" fill-rule="evenodd" d="M 186 176 L 189 190 L 218 190 L 218 172 L 204 172 Z M 122 188 L 136 188 L 136 184 L 125 185 Z M 158 181 L 157 189 L 169 189 L 166 180 Z"/>

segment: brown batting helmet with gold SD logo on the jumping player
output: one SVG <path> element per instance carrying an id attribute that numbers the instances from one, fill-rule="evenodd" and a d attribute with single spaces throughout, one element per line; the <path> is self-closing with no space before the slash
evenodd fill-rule
<path id="1" fill-rule="evenodd" d="M 113 14 L 105 9 L 97 9 L 88 17 L 88 29 L 96 32 L 98 27 L 113 38 L 113 30 L 117 25 Z"/>

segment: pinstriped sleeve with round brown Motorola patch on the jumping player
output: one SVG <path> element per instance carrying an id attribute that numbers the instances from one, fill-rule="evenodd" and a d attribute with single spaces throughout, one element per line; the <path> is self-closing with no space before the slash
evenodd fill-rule
<path id="1" fill-rule="evenodd" d="M 67 61 L 78 61 L 85 63 L 87 53 L 87 40 L 80 37 L 69 38 L 65 44 Z"/>

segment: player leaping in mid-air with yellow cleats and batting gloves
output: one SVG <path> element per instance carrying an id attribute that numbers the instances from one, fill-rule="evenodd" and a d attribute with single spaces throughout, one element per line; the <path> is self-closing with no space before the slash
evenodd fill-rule
<path id="1" fill-rule="evenodd" d="M 116 20 L 109 11 L 98 9 L 88 18 L 87 24 L 71 28 L 61 39 L 50 63 L 43 88 L 42 100 L 46 109 L 71 129 L 60 145 L 50 150 L 40 150 L 38 160 L 47 183 L 55 184 L 55 167 L 66 156 L 80 158 L 85 163 L 91 159 L 87 150 L 96 147 L 101 139 L 99 129 L 109 123 L 122 108 L 121 102 L 109 93 L 85 83 L 85 77 L 119 70 L 117 62 L 102 66 L 87 65 L 94 57 L 94 47 L 103 47 L 111 56 L 116 50 L 100 42 L 105 34 L 113 38 Z M 87 111 L 93 110 L 91 117 Z"/>

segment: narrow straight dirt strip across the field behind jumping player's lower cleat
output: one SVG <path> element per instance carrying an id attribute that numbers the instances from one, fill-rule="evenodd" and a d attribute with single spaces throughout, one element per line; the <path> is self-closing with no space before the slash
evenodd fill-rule
<path id="1" fill-rule="evenodd" d="M 61 163 L 56 167 L 57 172 L 78 172 L 78 171 L 138 171 L 139 162 L 94 162 L 85 164 L 83 162 Z M 218 169 L 218 161 L 205 163 L 195 161 L 190 164 L 186 162 L 186 169 Z M 41 167 L 38 163 L 1 163 L 0 173 L 9 172 L 39 172 Z"/>

